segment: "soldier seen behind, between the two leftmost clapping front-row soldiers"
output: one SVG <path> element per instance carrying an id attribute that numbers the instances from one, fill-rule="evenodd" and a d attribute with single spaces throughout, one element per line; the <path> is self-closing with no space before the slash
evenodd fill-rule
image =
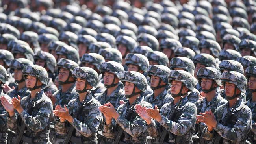
<path id="1" fill-rule="evenodd" d="M 56 69 L 56 59 L 55 57 L 44 51 L 37 51 L 34 55 L 34 64 L 42 66 L 46 69 L 48 73 L 48 83 L 44 85 L 43 91 L 44 92 L 51 92 L 52 94 L 58 90 L 56 85 L 54 85 L 52 79 L 55 79 L 55 69 Z"/>

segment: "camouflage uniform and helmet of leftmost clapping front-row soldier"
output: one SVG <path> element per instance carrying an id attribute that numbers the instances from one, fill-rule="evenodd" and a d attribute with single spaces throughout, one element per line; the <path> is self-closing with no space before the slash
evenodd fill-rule
<path id="1" fill-rule="evenodd" d="M 43 85 L 47 84 L 48 74 L 46 70 L 41 66 L 26 66 L 24 67 L 22 73 L 24 76 L 36 76 L 37 80 L 40 80 Z M 15 113 L 14 116 L 7 117 L 7 127 L 15 133 L 18 133 L 18 119 L 21 118 L 22 121 L 26 124 L 26 127 L 28 127 L 28 129 L 24 131 L 23 135 L 26 135 L 27 137 L 32 137 L 32 141 L 35 144 L 50 144 L 50 130 L 48 129 L 48 126 L 50 124 L 50 120 L 53 120 L 54 118 L 52 101 L 44 94 L 44 91 L 41 90 L 41 92 L 39 92 L 39 94 L 35 98 L 35 102 L 37 103 L 37 109 L 33 109 L 32 115 L 30 115 L 27 113 L 28 105 L 30 105 L 31 103 L 30 97 L 31 96 L 26 96 L 22 98 L 20 102 L 21 106 L 24 109 L 22 113 Z M 23 142 L 23 144 L 28 143 Z"/>

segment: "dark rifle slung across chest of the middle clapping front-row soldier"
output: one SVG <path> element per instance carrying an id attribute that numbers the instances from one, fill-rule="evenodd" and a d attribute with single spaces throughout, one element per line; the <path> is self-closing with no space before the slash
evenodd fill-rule
<path id="1" fill-rule="evenodd" d="M 124 118 L 128 121 L 131 120 L 132 114 L 134 113 L 135 104 L 136 104 L 138 98 L 139 98 L 139 96 L 137 96 L 136 100 L 134 101 L 134 103 L 132 103 L 131 107 L 128 109 L 128 111 L 125 114 Z M 114 139 L 114 144 L 119 144 L 119 142 L 124 138 L 124 133 L 125 133 L 125 131 L 121 127 L 119 127 L 119 129 L 117 131 L 117 135 Z"/>

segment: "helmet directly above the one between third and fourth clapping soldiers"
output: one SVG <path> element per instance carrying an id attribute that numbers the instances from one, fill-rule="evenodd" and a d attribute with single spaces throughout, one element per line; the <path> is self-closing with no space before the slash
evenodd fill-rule
<path id="1" fill-rule="evenodd" d="M 159 65 L 168 66 L 169 64 L 167 55 L 159 51 L 148 52 L 146 57 L 148 58 L 148 61 L 156 61 Z"/>

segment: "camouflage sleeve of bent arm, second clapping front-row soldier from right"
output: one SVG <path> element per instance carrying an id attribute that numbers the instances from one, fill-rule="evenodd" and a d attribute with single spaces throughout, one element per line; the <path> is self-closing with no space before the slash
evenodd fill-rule
<path id="1" fill-rule="evenodd" d="M 167 131 L 170 131 L 174 135 L 182 136 L 187 133 L 191 127 L 195 126 L 197 116 L 197 108 L 195 105 L 186 107 L 177 122 L 171 121 L 162 115 L 162 111 L 165 108 L 166 107 L 160 110 L 161 120 L 159 123 L 165 127 Z"/>

